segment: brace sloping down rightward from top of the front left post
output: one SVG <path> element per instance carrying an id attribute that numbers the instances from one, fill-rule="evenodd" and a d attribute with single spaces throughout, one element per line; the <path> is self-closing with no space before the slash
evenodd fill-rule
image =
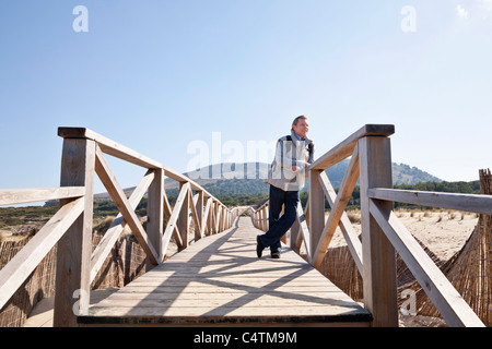
<path id="1" fill-rule="evenodd" d="M 140 222 L 139 218 L 137 217 L 137 214 L 134 213 L 130 203 L 128 202 L 125 192 L 122 191 L 121 186 L 116 180 L 116 177 L 113 173 L 112 169 L 109 168 L 109 165 L 104 158 L 103 152 L 101 151 L 99 147 L 96 147 L 95 169 L 97 176 L 99 177 L 101 181 L 106 188 L 109 196 L 112 196 L 116 207 L 118 207 L 122 217 L 125 218 L 131 231 L 133 232 L 133 236 L 136 237 L 137 241 L 140 243 L 143 251 L 145 251 L 149 262 L 152 263 L 153 265 L 157 265 L 160 263 L 159 254 L 153 248 L 151 241 L 149 240 L 149 237 L 147 236 L 147 232 L 143 229 L 142 224 Z"/>

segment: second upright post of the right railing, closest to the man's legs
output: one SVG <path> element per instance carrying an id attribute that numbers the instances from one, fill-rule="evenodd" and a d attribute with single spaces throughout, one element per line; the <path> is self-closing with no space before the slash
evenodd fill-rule
<path id="1" fill-rule="evenodd" d="M 320 174 L 321 170 L 309 171 L 309 250 L 312 254 L 315 253 L 325 228 L 325 192 L 319 182 Z"/>

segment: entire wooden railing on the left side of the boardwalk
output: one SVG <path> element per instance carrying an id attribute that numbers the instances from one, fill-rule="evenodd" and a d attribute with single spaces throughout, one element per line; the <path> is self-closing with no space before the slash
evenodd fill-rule
<path id="1" fill-rule="evenodd" d="M 54 326 L 77 326 L 77 315 L 89 309 L 90 285 L 126 225 L 151 268 L 163 263 L 172 236 L 179 250 L 188 246 L 190 216 L 196 239 L 229 229 L 237 216 L 237 209 L 229 209 L 189 178 L 89 129 L 59 128 L 58 134 L 63 137 L 60 188 L 0 190 L 0 206 L 60 200 L 55 216 L 0 270 L 0 309 L 58 243 Z M 105 154 L 148 169 L 129 198 Z M 120 214 L 92 252 L 94 174 Z M 164 191 L 164 177 L 180 183 L 174 208 Z M 147 192 L 145 230 L 134 209 Z"/>

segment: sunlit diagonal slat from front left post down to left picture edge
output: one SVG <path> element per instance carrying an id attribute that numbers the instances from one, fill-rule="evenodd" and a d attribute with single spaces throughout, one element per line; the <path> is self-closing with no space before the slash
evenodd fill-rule
<path id="1" fill-rule="evenodd" d="M 84 210 L 84 198 L 62 206 L 48 222 L 0 270 L 0 309 Z"/>

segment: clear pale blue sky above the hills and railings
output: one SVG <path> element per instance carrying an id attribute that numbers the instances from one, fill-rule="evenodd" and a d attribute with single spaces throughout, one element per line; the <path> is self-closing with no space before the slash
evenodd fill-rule
<path id="1" fill-rule="evenodd" d="M 186 171 L 194 141 L 246 148 L 298 115 L 317 156 L 391 123 L 394 161 L 477 180 L 492 167 L 491 33 L 492 0 L 2 0 L 0 188 L 59 185 L 61 125 Z M 122 186 L 143 174 L 114 166 Z"/>

